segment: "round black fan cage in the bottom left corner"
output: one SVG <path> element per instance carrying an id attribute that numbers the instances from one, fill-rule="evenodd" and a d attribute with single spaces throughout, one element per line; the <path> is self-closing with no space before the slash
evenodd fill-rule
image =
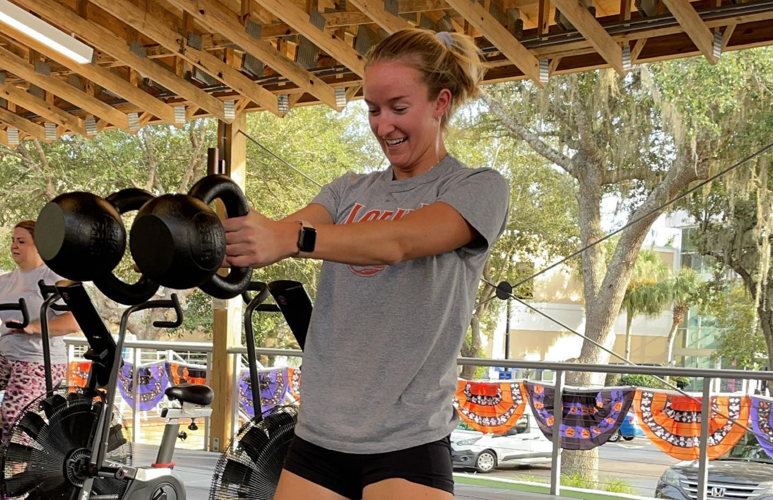
<path id="1" fill-rule="evenodd" d="M 29 403 L 5 443 L 2 500 L 77 500 L 83 478 L 71 464 L 89 456 L 106 404 L 104 393 L 80 387 L 55 389 Z M 107 450 L 108 461 L 131 465 L 131 435 L 116 412 Z M 91 495 L 120 496 L 126 486 L 126 481 L 95 478 Z"/>

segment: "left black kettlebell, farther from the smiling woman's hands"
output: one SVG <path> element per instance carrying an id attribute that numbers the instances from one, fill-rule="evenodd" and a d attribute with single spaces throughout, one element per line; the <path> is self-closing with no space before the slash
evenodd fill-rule
<path id="1" fill-rule="evenodd" d="M 94 281 L 108 298 L 126 305 L 147 301 L 158 284 L 141 277 L 119 280 L 113 270 L 126 250 L 121 213 L 139 209 L 153 195 L 124 189 L 101 198 L 91 192 L 66 192 L 46 204 L 36 221 L 35 246 L 46 265 L 73 281 Z"/>

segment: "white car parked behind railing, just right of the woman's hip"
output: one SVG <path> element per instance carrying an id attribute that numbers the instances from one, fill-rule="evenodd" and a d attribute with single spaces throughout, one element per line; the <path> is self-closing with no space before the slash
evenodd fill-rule
<path id="1" fill-rule="evenodd" d="M 451 432 L 451 457 L 455 468 L 490 472 L 500 465 L 550 462 L 553 444 L 542 434 L 527 409 L 505 434 L 482 434 L 460 420 Z"/>

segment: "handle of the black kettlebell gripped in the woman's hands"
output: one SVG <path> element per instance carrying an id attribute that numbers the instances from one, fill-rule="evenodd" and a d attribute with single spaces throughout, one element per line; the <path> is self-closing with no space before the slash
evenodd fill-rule
<path id="1" fill-rule="evenodd" d="M 250 212 L 247 197 L 236 182 L 227 175 L 206 175 L 196 182 L 188 192 L 189 196 L 195 196 L 207 205 L 214 199 L 220 199 L 226 208 L 226 216 L 241 217 Z M 246 290 L 252 278 L 252 267 L 231 267 L 226 276 L 215 274 L 209 280 L 199 285 L 204 293 L 215 298 L 234 298 Z"/>

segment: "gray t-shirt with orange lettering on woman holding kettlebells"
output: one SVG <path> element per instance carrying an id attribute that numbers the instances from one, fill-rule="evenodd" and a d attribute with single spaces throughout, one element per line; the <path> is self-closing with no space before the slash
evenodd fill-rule
<path id="1" fill-rule="evenodd" d="M 452 206 L 481 237 L 394 266 L 322 264 L 306 338 L 295 433 L 335 451 L 369 454 L 451 434 L 456 357 L 489 249 L 505 229 L 509 188 L 490 168 L 451 155 L 393 180 L 392 168 L 349 173 L 312 200 L 336 224 L 398 219 L 433 202 Z"/>

